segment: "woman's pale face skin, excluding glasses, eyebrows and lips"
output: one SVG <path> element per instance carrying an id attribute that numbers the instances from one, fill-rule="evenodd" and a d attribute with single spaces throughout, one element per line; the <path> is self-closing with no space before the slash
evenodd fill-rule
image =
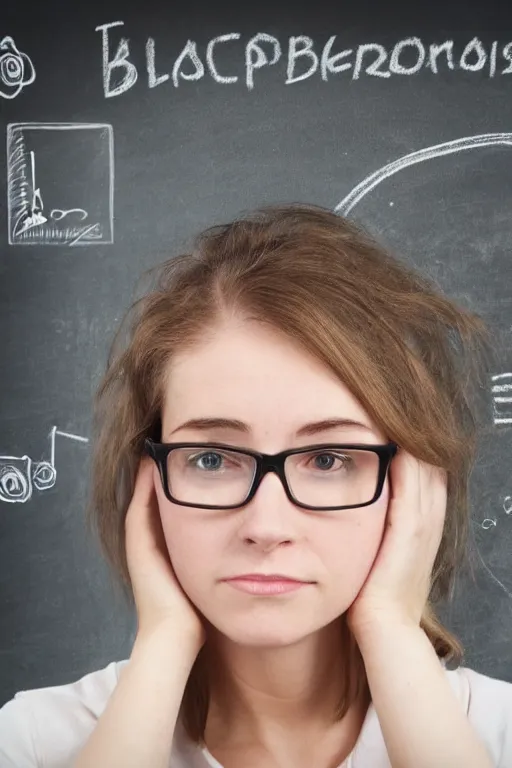
<path id="1" fill-rule="evenodd" d="M 237 419 L 246 430 L 182 427 L 190 419 Z M 297 436 L 305 424 L 359 422 Z M 220 442 L 263 453 L 340 442 L 382 444 L 385 436 L 334 374 L 268 327 L 232 320 L 202 346 L 175 358 L 162 413 L 163 442 Z M 320 467 L 322 468 L 322 467 Z M 156 466 L 158 505 L 171 562 L 197 609 L 230 640 L 295 643 L 344 613 L 377 554 L 388 482 L 372 505 L 314 512 L 288 500 L 268 473 L 251 502 L 232 510 L 173 504 Z M 314 582 L 278 597 L 254 596 L 223 581 L 246 573 Z"/>

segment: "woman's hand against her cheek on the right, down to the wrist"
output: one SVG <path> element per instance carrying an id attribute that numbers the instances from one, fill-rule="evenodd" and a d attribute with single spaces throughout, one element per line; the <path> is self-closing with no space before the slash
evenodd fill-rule
<path id="1" fill-rule="evenodd" d="M 347 612 L 356 639 L 379 626 L 419 626 L 446 515 L 446 472 L 399 450 L 390 468 L 384 534 Z"/>

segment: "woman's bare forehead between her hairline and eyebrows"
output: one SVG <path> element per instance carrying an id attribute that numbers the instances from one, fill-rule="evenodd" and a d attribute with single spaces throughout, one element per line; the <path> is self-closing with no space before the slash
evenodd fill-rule
<path id="1" fill-rule="evenodd" d="M 307 421 L 353 418 L 374 427 L 334 372 L 262 324 L 232 322 L 168 368 L 164 431 L 200 416 L 238 418 L 262 434 Z"/>

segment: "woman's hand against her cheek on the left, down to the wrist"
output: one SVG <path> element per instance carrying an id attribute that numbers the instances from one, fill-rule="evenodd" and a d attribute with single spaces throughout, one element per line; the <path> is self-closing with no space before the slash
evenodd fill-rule
<path id="1" fill-rule="evenodd" d="M 197 654 L 205 641 L 205 629 L 171 565 L 153 474 L 152 459 L 143 456 L 125 519 L 126 555 L 138 617 L 137 634 L 151 634 L 163 627 L 190 643 Z"/>

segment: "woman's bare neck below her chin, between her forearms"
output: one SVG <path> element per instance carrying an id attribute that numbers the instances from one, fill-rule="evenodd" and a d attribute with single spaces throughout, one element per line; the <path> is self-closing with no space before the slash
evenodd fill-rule
<path id="1" fill-rule="evenodd" d="M 208 651 L 207 741 L 264 744 L 276 732 L 320 735 L 338 727 L 335 714 L 345 674 L 342 644 L 339 621 L 286 647 L 244 647 L 214 634 Z M 351 709 L 358 722 L 364 717 L 362 706 L 359 701 Z"/>

